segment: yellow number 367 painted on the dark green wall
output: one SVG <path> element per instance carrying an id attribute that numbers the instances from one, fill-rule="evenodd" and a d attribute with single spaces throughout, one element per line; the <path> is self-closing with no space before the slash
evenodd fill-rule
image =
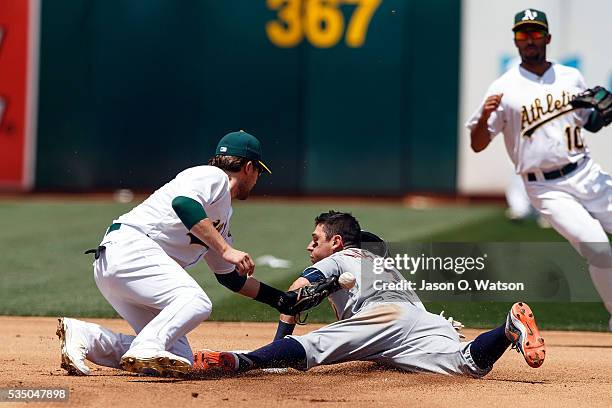
<path id="1" fill-rule="evenodd" d="M 343 4 L 356 6 L 346 28 L 346 45 L 358 48 L 365 42 L 368 25 L 382 0 L 267 0 L 277 20 L 266 24 L 272 44 L 291 48 L 304 37 L 317 48 L 338 44 L 344 33 Z"/>

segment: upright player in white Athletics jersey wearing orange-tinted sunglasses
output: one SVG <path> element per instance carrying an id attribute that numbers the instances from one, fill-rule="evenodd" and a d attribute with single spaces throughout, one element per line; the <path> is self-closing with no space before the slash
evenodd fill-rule
<path id="1" fill-rule="evenodd" d="M 500 132 L 531 204 L 587 259 L 595 288 L 612 313 L 612 177 L 590 158 L 582 129 L 605 122 L 593 109 L 572 109 L 587 87 L 577 69 L 546 60 L 551 41 L 545 13 L 527 9 L 514 19 L 521 64 L 495 80 L 467 121 L 472 149 Z M 610 319 L 612 330 L 612 319 Z"/>

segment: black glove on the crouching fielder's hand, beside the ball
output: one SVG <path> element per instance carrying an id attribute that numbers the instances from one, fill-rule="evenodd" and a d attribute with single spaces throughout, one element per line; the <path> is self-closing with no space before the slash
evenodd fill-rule
<path id="1" fill-rule="evenodd" d="M 319 305 L 323 299 L 339 289 L 338 277 L 332 276 L 312 285 L 285 292 L 277 309 L 283 314 L 297 316 Z"/>

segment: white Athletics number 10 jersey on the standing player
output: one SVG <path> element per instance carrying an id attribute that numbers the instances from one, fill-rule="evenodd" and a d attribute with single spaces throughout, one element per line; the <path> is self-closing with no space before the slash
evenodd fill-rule
<path id="1" fill-rule="evenodd" d="M 588 155 L 587 148 L 577 148 L 580 143 L 569 144 L 567 136 L 571 133 L 573 141 L 573 133 L 579 133 L 575 129 L 588 120 L 588 109 L 570 106 L 574 95 L 584 89 L 577 69 L 554 63 L 542 76 L 516 65 L 491 84 L 487 96 L 503 95 L 487 121 L 487 130 L 492 138 L 504 134 L 517 173 L 555 170 Z M 482 107 L 467 121 L 468 129 L 476 126 Z"/>

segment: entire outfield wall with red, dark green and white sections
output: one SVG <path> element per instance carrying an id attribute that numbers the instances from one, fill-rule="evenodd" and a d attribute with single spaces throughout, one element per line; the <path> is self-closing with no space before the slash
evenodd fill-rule
<path id="1" fill-rule="evenodd" d="M 501 193 L 501 137 L 476 155 L 463 123 L 523 7 L 548 13 L 550 57 L 612 87 L 608 0 L 2 2 L 25 4 L 27 38 L 0 13 L 0 189 L 149 190 L 245 129 L 274 171 L 259 193 Z M 612 170 L 612 127 L 587 143 Z"/>

